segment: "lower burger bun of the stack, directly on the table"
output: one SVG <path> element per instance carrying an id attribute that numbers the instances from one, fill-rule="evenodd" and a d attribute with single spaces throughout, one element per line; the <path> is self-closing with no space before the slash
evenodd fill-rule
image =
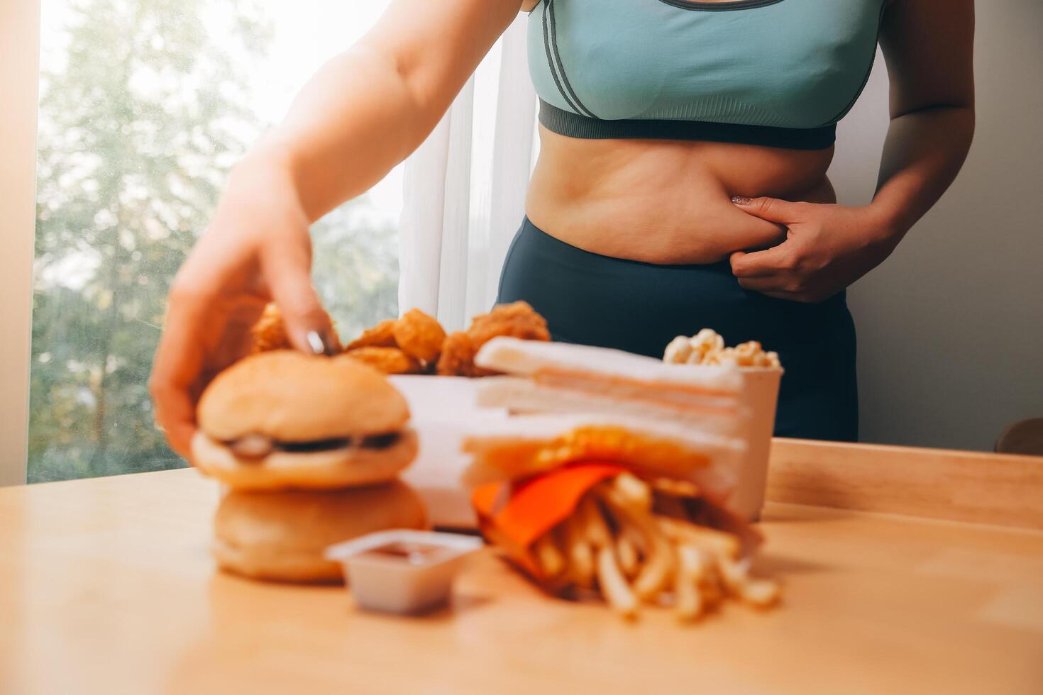
<path id="1" fill-rule="evenodd" d="M 378 530 L 423 528 L 420 498 L 404 482 L 347 490 L 225 495 L 214 517 L 218 566 L 254 579 L 336 582 L 326 546 Z"/>

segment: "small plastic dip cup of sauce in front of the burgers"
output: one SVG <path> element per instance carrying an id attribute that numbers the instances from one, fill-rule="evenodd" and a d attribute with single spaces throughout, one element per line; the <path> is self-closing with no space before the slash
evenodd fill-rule
<path id="1" fill-rule="evenodd" d="M 372 552 L 396 544 L 436 550 L 409 557 Z M 344 579 L 360 607 L 410 614 L 445 602 L 464 559 L 482 545 L 482 539 L 470 536 L 396 529 L 332 545 L 323 554 L 343 566 Z"/>

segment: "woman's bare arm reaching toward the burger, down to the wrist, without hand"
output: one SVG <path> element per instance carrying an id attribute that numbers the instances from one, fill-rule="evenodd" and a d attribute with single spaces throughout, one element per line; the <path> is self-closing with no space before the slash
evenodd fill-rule
<path id="1" fill-rule="evenodd" d="M 308 218 L 383 178 L 441 119 L 522 0 L 394 0 L 330 60 L 260 148 L 290 167 Z"/>

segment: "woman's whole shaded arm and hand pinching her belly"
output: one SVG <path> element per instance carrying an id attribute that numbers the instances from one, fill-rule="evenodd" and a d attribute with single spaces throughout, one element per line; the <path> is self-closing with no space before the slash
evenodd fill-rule
<path id="1" fill-rule="evenodd" d="M 772 297 L 821 301 L 887 258 L 960 171 L 974 133 L 973 0 L 894 0 L 880 46 L 891 126 L 869 205 L 735 199 L 786 227 L 771 249 L 732 255 L 739 283 Z"/>

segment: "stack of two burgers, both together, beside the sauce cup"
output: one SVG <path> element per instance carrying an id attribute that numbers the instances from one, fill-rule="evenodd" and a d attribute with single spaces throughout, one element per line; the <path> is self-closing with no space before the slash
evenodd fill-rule
<path id="1" fill-rule="evenodd" d="M 419 497 L 397 479 L 417 451 L 409 407 L 368 365 L 292 350 L 252 354 L 210 383 L 197 421 L 193 463 L 231 488 L 213 543 L 226 571 L 339 581 L 326 546 L 427 524 Z"/>

